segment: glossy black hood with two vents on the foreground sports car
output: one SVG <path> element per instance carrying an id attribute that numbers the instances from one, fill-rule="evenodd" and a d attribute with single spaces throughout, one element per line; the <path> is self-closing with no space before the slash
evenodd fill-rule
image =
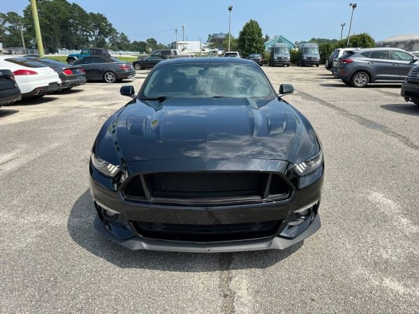
<path id="1" fill-rule="evenodd" d="M 199 99 L 199 100 L 198 100 Z M 318 151 L 307 119 L 283 100 L 133 100 L 103 126 L 94 153 L 110 163 L 188 158 L 272 159 L 293 163 Z"/>

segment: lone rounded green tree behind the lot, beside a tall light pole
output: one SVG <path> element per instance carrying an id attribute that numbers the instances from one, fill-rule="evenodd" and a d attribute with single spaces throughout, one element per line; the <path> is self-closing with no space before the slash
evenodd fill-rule
<path id="1" fill-rule="evenodd" d="M 258 22 L 249 20 L 244 24 L 242 31 L 239 33 L 238 48 L 244 56 L 252 52 L 260 54 L 264 52 L 263 33 Z"/>

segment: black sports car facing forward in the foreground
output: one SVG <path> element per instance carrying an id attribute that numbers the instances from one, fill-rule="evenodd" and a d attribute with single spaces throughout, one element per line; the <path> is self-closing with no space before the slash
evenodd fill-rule
<path id="1" fill-rule="evenodd" d="M 283 249 L 316 232 L 323 150 L 263 70 L 239 58 L 162 61 L 91 151 L 95 227 L 133 250 Z"/>

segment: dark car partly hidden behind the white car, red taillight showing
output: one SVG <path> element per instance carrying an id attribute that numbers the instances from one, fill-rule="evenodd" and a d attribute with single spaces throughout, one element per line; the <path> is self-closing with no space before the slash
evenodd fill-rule
<path id="1" fill-rule="evenodd" d="M 86 83 L 86 76 L 81 66 L 73 66 L 57 60 L 47 58 L 25 57 L 26 59 L 36 60 L 45 66 L 49 66 L 58 73 L 59 78 L 63 82 L 61 89 L 72 89 Z"/>

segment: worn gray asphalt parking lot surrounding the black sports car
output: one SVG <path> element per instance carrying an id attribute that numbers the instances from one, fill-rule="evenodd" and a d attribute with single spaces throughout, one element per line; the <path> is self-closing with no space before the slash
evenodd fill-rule
<path id="1" fill-rule="evenodd" d="M 346 87 L 263 66 L 325 150 L 322 227 L 285 251 L 128 251 L 93 227 L 89 150 L 147 71 L 0 107 L 0 311 L 417 313 L 419 106 L 400 84 Z"/>

